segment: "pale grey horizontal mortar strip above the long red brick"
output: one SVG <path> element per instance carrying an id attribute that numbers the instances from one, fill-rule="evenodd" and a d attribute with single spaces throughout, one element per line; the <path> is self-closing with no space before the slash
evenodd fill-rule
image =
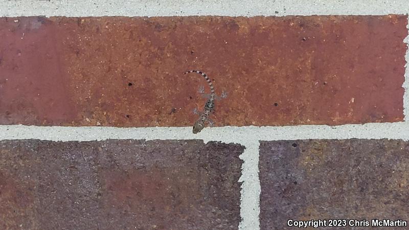
<path id="1" fill-rule="evenodd" d="M 286 16 L 407 14 L 407 0 L 1 1 L 0 16 Z"/>

